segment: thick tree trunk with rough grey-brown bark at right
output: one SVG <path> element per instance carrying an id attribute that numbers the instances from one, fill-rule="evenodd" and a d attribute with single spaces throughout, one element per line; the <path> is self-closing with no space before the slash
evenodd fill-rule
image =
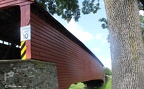
<path id="1" fill-rule="evenodd" d="M 137 0 L 105 0 L 113 89 L 144 89 L 144 47 Z"/>

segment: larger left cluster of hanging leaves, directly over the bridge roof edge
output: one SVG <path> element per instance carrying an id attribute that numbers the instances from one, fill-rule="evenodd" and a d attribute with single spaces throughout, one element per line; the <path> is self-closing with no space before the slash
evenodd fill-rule
<path id="1" fill-rule="evenodd" d="M 72 17 L 77 21 L 80 18 L 78 0 L 36 0 L 49 13 L 57 14 L 63 19 L 70 21 Z"/>

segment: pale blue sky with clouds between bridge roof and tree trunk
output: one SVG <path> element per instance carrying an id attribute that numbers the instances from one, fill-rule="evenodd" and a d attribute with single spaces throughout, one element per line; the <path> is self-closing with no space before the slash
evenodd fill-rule
<path id="1" fill-rule="evenodd" d="M 81 1 L 79 0 L 80 4 Z M 81 6 L 81 5 L 80 5 Z M 54 15 L 65 28 L 76 36 L 83 44 L 89 48 L 105 67 L 111 69 L 110 44 L 107 41 L 108 29 L 102 29 L 100 18 L 106 18 L 103 0 L 100 0 L 100 10 L 96 14 L 83 15 L 78 22 L 72 19 L 69 23 L 61 17 Z"/>

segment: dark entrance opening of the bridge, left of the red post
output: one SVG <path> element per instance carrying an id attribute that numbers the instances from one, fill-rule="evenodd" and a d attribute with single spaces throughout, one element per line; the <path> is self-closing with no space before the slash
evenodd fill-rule
<path id="1" fill-rule="evenodd" d="M 20 7 L 0 8 L 0 60 L 21 59 Z"/>

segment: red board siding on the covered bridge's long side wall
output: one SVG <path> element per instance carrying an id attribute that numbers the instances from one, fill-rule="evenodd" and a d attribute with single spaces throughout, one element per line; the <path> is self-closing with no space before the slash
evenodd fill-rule
<path id="1" fill-rule="evenodd" d="M 31 57 L 57 65 L 59 89 L 70 84 L 103 79 L 102 65 L 88 52 L 31 13 Z"/>

